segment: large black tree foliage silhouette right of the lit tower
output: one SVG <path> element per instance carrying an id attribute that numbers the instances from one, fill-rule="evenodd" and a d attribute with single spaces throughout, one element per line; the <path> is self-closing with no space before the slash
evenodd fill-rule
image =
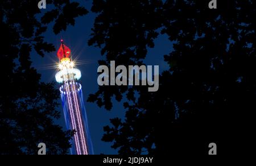
<path id="1" fill-rule="evenodd" d="M 159 35 L 173 43 L 169 55 L 155 55 L 170 66 L 160 74 L 158 92 L 144 86 L 100 86 L 88 98 L 107 110 L 113 97 L 127 98 L 125 119 L 111 119 L 102 138 L 119 153 L 208 154 L 210 142 L 232 153 L 251 143 L 256 2 L 218 1 L 216 10 L 208 9 L 208 3 L 93 1 L 98 15 L 89 45 L 100 47 L 106 57 L 99 64 L 143 64 Z"/>

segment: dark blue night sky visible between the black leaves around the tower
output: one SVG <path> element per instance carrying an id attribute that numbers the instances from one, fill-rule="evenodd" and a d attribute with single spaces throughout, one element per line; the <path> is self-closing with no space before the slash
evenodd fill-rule
<path id="1" fill-rule="evenodd" d="M 90 10 L 92 6 L 91 0 L 80 0 L 82 6 Z M 81 70 L 82 78 L 82 90 L 84 93 L 84 101 L 88 98 L 90 93 L 97 92 L 97 68 L 98 60 L 105 57 L 100 55 L 100 49 L 96 47 L 89 47 L 88 40 L 90 39 L 91 28 L 93 28 L 93 22 L 96 14 L 89 13 L 85 16 L 76 19 L 75 26 L 69 26 L 67 31 L 61 32 L 59 35 L 55 35 L 52 32 L 52 24 L 49 25 L 48 31 L 44 34 L 45 40 L 48 43 L 53 43 L 56 49 L 59 48 L 60 39 L 64 39 L 64 43 L 71 48 L 72 56 L 78 57 L 79 61 L 87 61 L 85 64 L 78 65 L 77 68 Z M 159 65 L 160 71 L 168 69 L 167 63 L 163 61 L 163 55 L 170 53 L 172 50 L 172 44 L 169 42 L 167 36 L 159 36 L 155 40 L 155 48 L 148 50 L 148 55 L 144 61 L 147 65 Z M 42 74 L 42 81 L 51 82 L 55 81 L 55 69 L 47 69 L 49 65 L 53 65 L 57 61 L 56 52 L 46 53 L 45 57 L 32 53 L 32 65 L 38 69 L 38 72 Z M 134 64 L 135 65 L 135 64 Z M 114 101 L 114 100 L 113 100 Z M 61 101 L 60 101 L 61 103 Z M 85 107 L 88 116 L 88 124 L 90 128 L 90 134 L 92 136 L 93 148 L 95 154 L 117 154 L 117 150 L 113 150 L 110 147 L 110 143 L 102 142 L 101 138 L 104 134 L 103 127 L 110 124 L 109 119 L 114 117 L 122 118 L 125 115 L 125 110 L 122 107 L 122 102 L 113 102 L 112 111 L 107 111 L 104 108 L 99 108 L 96 103 L 85 102 Z M 61 114 L 63 113 L 62 107 L 59 107 Z M 63 114 L 61 118 L 56 121 L 65 128 L 65 121 Z"/>

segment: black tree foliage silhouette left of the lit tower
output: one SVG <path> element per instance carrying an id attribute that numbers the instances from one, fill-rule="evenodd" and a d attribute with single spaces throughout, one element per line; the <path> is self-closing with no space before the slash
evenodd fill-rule
<path id="1" fill-rule="evenodd" d="M 37 145 L 46 143 L 47 154 L 68 153 L 73 131 L 64 132 L 53 122 L 60 118 L 56 110 L 59 93 L 53 83 L 40 82 L 40 74 L 31 67 L 30 53 L 40 56 L 55 51 L 44 41 L 48 23 L 55 22 L 58 34 L 75 18 L 88 11 L 69 0 L 47 1 L 47 13 L 41 13 L 34 0 L 1 1 L 0 27 L 0 153 L 37 154 Z M 42 16 L 42 20 L 40 17 Z"/>

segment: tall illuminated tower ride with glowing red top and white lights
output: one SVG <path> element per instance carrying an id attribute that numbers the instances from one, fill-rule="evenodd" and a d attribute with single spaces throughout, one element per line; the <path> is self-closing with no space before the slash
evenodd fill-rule
<path id="1" fill-rule="evenodd" d="M 71 50 L 63 44 L 63 40 L 61 40 L 57 56 L 59 57 L 60 63 L 59 72 L 57 72 L 55 78 L 60 83 L 65 123 L 68 130 L 76 131 L 71 140 L 71 154 L 93 154 L 82 97 L 82 86 L 79 82 L 81 72 L 79 69 L 74 68 L 74 63 L 71 59 Z"/>

